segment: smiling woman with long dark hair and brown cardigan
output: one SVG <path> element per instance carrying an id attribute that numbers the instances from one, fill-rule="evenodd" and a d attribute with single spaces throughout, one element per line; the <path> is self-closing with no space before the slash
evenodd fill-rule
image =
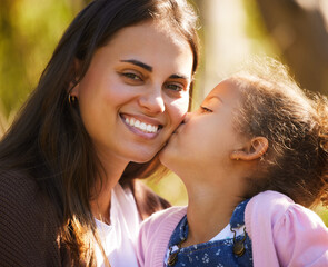
<path id="1" fill-rule="evenodd" d="M 196 16 L 181 0 L 95 0 L 0 142 L 3 266 L 136 266 L 135 182 L 188 109 Z"/>

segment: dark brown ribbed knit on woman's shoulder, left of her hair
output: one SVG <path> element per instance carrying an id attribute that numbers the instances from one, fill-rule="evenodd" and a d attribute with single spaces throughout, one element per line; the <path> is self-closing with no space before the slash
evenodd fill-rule
<path id="1" fill-rule="evenodd" d="M 19 266 L 60 265 L 53 204 L 19 171 L 0 175 L 0 261 Z"/>

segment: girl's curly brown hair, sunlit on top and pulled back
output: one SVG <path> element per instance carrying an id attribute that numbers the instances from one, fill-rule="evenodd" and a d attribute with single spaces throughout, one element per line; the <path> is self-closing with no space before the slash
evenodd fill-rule
<path id="1" fill-rule="evenodd" d="M 275 59 L 256 59 L 245 69 L 230 78 L 242 95 L 236 130 L 269 141 L 248 178 L 248 197 L 276 190 L 306 207 L 320 200 L 328 206 L 327 97 L 301 90 Z"/>

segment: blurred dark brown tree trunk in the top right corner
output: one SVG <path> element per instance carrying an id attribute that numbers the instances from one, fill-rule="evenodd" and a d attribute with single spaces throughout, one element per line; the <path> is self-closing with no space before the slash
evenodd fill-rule
<path id="1" fill-rule="evenodd" d="M 328 92 L 326 0 L 257 0 L 265 24 L 302 88 Z M 326 2 L 327 4 L 327 2 Z"/>

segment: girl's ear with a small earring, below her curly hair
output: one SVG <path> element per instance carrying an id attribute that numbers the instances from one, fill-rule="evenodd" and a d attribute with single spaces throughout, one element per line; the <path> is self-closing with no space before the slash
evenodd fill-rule
<path id="1" fill-rule="evenodd" d="M 260 158 L 268 150 L 268 139 L 265 137 L 255 137 L 247 146 L 240 150 L 235 150 L 230 159 L 235 160 L 254 160 Z"/>

